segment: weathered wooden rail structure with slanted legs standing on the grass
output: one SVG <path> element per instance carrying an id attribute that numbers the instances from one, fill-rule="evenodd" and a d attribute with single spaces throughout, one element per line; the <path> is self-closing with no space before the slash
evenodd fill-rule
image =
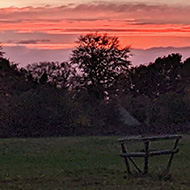
<path id="1" fill-rule="evenodd" d="M 131 162 L 134 167 L 137 169 L 138 172 L 147 174 L 148 173 L 148 162 L 149 162 L 149 157 L 152 156 L 159 156 L 159 155 L 170 155 L 167 168 L 165 170 L 165 173 L 169 173 L 169 169 L 174 157 L 174 154 L 178 153 L 178 143 L 179 139 L 181 139 L 181 135 L 158 135 L 158 136 L 128 136 L 128 137 L 123 137 L 119 138 L 118 141 L 121 144 L 121 150 L 122 153 L 120 154 L 121 157 L 124 158 L 127 172 L 128 174 L 132 174 L 129 162 Z M 150 142 L 151 141 L 158 141 L 158 140 L 170 140 L 174 139 L 174 145 L 172 149 L 163 149 L 163 150 L 151 150 L 150 147 Z M 136 151 L 136 152 L 128 152 L 127 150 L 127 144 L 128 142 L 142 142 L 144 144 L 144 149 L 143 151 Z M 142 171 L 135 161 L 132 159 L 133 157 L 143 157 L 144 158 L 144 170 Z"/>

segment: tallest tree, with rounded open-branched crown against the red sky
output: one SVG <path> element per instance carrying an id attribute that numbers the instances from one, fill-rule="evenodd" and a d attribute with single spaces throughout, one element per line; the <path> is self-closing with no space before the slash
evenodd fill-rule
<path id="1" fill-rule="evenodd" d="M 76 66 L 79 86 L 104 99 L 121 75 L 127 76 L 129 48 L 120 48 L 118 37 L 98 33 L 82 35 L 70 62 Z"/>

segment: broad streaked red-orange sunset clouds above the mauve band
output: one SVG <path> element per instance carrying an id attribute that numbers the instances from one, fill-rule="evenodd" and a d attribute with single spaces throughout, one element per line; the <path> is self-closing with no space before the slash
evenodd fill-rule
<path id="1" fill-rule="evenodd" d="M 0 9 L 0 33 L 2 43 L 30 48 L 74 47 L 80 34 L 89 32 L 109 33 L 121 37 L 123 44 L 149 47 L 151 38 L 155 44 L 158 36 L 190 37 L 190 6 L 150 5 L 145 3 L 88 3 L 59 7 L 9 7 Z M 141 37 L 140 43 L 134 37 Z M 45 41 L 44 41 L 45 39 Z M 164 38 L 162 38 L 164 39 Z M 147 38 L 146 38 L 147 40 Z M 135 41 L 135 42 L 134 42 Z M 164 43 L 164 42 L 163 42 Z M 168 45 L 176 45 L 171 40 Z M 184 42 L 178 41 L 179 45 Z M 190 44 L 189 40 L 186 42 Z M 165 43 L 164 43 L 165 44 Z M 6 43 L 6 46 L 11 43 Z M 165 45 L 164 45 L 165 46 Z"/>

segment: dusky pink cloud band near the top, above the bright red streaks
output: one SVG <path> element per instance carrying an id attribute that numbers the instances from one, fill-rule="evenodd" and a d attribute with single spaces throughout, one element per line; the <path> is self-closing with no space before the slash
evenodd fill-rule
<path id="1" fill-rule="evenodd" d="M 185 23 L 190 24 L 190 7 L 175 7 L 169 5 L 148 5 L 134 3 L 96 3 L 81 4 L 76 7 L 9 7 L 0 9 L 0 21 L 61 21 L 84 19 L 127 19 L 142 21 L 142 23 Z"/>

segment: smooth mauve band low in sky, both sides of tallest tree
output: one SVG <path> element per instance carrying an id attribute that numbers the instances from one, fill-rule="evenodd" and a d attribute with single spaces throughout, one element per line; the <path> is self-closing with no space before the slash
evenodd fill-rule
<path id="1" fill-rule="evenodd" d="M 29 49 L 22 46 L 3 47 L 6 52 L 5 57 L 10 61 L 20 63 L 20 67 L 34 62 L 44 61 L 67 61 L 72 49 Z M 167 56 L 170 53 L 180 53 L 183 60 L 190 57 L 190 47 L 154 47 L 150 49 L 131 49 L 133 56 L 131 57 L 132 64 L 138 66 L 140 64 L 154 62 L 157 57 Z"/>

